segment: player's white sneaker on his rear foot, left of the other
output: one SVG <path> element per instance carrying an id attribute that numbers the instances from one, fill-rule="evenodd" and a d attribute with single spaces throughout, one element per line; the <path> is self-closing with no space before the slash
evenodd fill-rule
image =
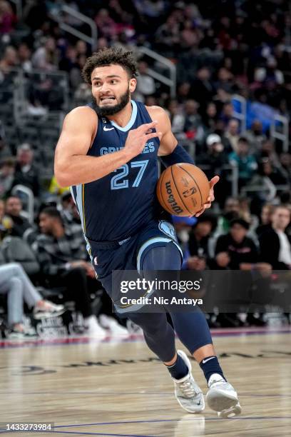
<path id="1" fill-rule="evenodd" d="M 203 393 L 198 384 L 195 383 L 191 373 L 191 363 L 183 351 L 177 351 L 189 369 L 188 375 L 181 379 L 173 378 L 175 385 L 175 397 L 180 406 L 188 413 L 200 413 L 205 408 Z"/>

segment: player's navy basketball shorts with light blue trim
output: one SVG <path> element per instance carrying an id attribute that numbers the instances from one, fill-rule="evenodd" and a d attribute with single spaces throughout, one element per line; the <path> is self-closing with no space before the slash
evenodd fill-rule
<path id="1" fill-rule="evenodd" d="M 91 246 L 91 259 L 98 281 L 101 281 L 103 288 L 113 301 L 112 272 L 126 270 L 140 272 L 143 258 L 152 248 L 163 247 L 170 242 L 174 243 L 180 251 L 181 263 L 183 260 L 183 252 L 178 245 L 175 228 L 172 223 L 165 220 L 150 221 L 138 233 L 123 241 L 101 243 L 89 239 L 88 242 Z M 118 311 L 118 308 L 116 310 Z"/>

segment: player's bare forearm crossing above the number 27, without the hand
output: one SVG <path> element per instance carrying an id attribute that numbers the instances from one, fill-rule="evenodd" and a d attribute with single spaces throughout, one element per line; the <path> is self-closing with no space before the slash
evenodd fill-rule
<path id="1" fill-rule="evenodd" d="M 88 184 L 107 176 L 130 161 L 126 149 L 103 156 L 73 155 L 55 161 L 56 181 L 60 186 Z"/>

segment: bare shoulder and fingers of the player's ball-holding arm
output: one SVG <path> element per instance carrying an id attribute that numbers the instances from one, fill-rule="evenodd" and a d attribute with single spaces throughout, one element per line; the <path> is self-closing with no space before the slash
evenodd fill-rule
<path id="1" fill-rule="evenodd" d="M 168 117 L 168 114 L 164 111 L 163 108 L 160 108 L 160 106 L 148 106 L 148 113 L 155 120 L 158 121 L 157 129 L 161 131 L 161 138 L 160 138 L 160 147 L 158 151 L 158 156 L 167 156 L 173 153 L 175 148 L 178 146 L 178 141 L 175 139 L 175 136 L 173 135 L 170 119 Z M 210 196 L 208 197 L 208 201 L 206 204 L 204 204 L 203 209 L 198 211 L 197 214 L 195 214 L 196 217 L 203 214 L 205 209 L 210 208 L 211 202 L 215 200 L 214 197 L 214 189 L 213 187 L 215 184 L 217 184 L 219 181 L 219 176 L 213 176 L 213 178 L 209 181 L 210 184 Z"/>

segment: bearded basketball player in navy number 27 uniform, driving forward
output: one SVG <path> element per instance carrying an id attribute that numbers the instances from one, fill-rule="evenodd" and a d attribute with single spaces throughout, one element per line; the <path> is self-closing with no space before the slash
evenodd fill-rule
<path id="1" fill-rule="evenodd" d="M 131 100 L 136 76 L 129 51 L 104 49 L 88 58 L 83 78 L 91 85 L 93 103 L 66 116 L 56 146 L 56 179 L 60 186 L 71 186 L 93 266 L 111 297 L 114 270 L 178 271 L 182 262 L 173 224 L 157 217 L 157 159 L 165 166 L 193 164 L 193 159 L 177 143 L 162 108 Z M 198 215 L 214 200 L 218 179 L 211 179 L 208 203 Z M 188 357 L 175 349 L 166 313 L 140 313 L 134 306 L 116 310 L 127 311 L 141 326 L 148 347 L 173 378 L 180 406 L 190 413 L 203 411 L 203 393 Z M 238 395 L 220 368 L 204 314 L 170 315 L 180 341 L 205 374 L 208 406 L 223 418 L 239 414 Z"/>

